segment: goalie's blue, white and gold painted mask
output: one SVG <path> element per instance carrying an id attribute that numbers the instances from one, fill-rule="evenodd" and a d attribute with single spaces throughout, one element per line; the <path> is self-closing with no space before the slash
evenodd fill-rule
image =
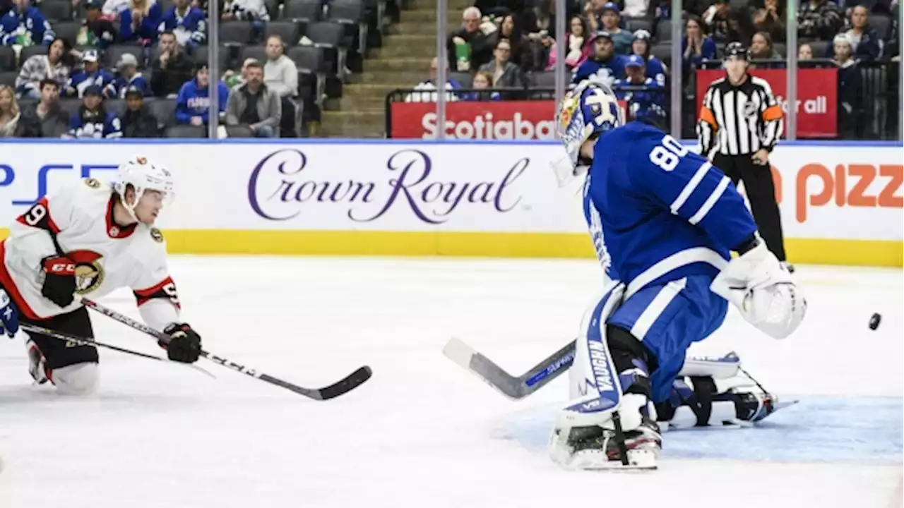
<path id="1" fill-rule="evenodd" d="M 580 146 L 591 136 L 625 124 L 615 93 L 606 85 L 585 80 L 570 89 L 559 104 L 556 133 L 565 147 L 565 155 L 552 163 L 559 186 L 587 173 L 592 161 L 580 155 Z"/>

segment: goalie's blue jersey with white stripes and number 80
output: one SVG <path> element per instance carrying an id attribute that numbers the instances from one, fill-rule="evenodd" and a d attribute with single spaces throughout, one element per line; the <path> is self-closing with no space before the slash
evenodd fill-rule
<path id="1" fill-rule="evenodd" d="M 734 184 L 663 131 L 633 122 L 603 133 L 584 183 L 590 236 L 628 291 L 715 277 L 757 225 Z"/>

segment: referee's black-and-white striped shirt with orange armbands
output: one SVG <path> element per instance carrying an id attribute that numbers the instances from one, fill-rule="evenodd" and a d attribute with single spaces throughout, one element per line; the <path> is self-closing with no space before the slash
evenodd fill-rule
<path id="1" fill-rule="evenodd" d="M 701 154 L 752 155 L 760 148 L 772 151 L 784 128 L 778 106 L 766 80 L 748 74 L 738 86 L 728 77 L 715 80 L 703 96 L 697 136 Z"/>

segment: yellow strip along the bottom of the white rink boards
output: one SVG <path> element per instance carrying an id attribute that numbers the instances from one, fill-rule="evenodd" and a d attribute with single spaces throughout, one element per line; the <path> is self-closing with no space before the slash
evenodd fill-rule
<path id="1" fill-rule="evenodd" d="M 0 239 L 9 230 L 0 229 Z M 593 258 L 582 233 L 165 230 L 173 254 Z M 904 241 L 786 239 L 794 263 L 904 268 Z"/>

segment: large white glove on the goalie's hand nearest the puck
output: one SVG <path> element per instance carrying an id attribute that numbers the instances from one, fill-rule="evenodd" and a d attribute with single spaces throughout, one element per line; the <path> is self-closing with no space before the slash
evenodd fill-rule
<path id="1" fill-rule="evenodd" d="M 739 253 L 712 281 L 711 291 L 738 307 L 763 333 L 784 339 L 804 320 L 803 293 L 762 240 L 755 238 Z"/>

